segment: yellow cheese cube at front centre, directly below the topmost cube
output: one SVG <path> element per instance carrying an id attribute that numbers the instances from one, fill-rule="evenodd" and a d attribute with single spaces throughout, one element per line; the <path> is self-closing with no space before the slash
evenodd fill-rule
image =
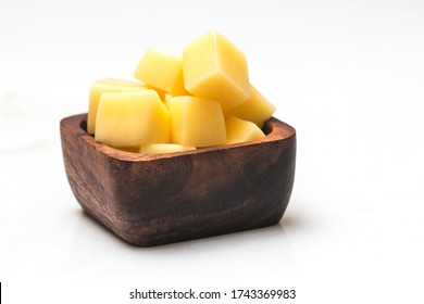
<path id="1" fill-rule="evenodd" d="M 166 101 L 172 142 L 209 147 L 225 143 L 225 119 L 216 101 L 197 97 L 175 97 Z"/>

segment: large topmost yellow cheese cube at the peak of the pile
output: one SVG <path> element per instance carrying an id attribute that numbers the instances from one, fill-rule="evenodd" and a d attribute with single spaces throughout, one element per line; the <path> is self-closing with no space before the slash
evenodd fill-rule
<path id="1" fill-rule="evenodd" d="M 224 111 L 250 97 L 246 56 L 217 31 L 208 33 L 186 46 L 183 74 L 187 91 L 219 101 Z"/>

